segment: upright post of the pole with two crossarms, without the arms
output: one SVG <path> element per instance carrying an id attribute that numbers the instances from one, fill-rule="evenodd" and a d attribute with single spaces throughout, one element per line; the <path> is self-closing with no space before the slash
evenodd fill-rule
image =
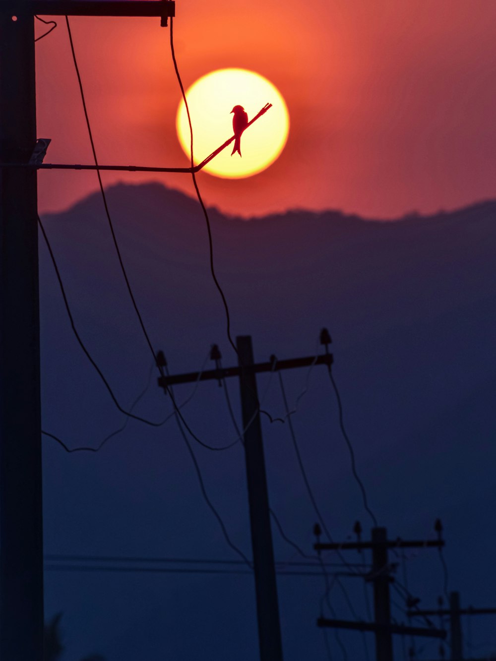
<path id="1" fill-rule="evenodd" d="M 387 540 L 386 528 L 372 528 L 374 616 L 376 624 L 379 625 L 376 631 L 376 661 L 393 661 Z"/>

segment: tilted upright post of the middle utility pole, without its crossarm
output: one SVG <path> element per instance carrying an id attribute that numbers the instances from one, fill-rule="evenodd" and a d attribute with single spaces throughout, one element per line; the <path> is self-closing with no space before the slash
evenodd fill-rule
<path id="1" fill-rule="evenodd" d="M 270 530 L 269 494 L 265 476 L 265 459 L 262 444 L 262 426 L 257 395 L 257 379 L 253 366 L 251 336 L 236 338 L 239 365 L 243 367 L 239 376 L 241 387 L 241 411 L 245 433 L 246 474 L 250 508 L 251 545 L 255 590 L 257 593 L 257 616 L 259 623 L 259 645 L 261 661 L 282 661 L 279 607 L 277 602 L 274 550 Z"/>

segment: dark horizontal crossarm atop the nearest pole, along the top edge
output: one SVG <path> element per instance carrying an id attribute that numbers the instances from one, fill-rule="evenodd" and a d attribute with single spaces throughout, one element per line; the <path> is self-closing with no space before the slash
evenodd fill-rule
<path id="1" fill-rule="evenodd" d="M 163 18 L 175 16 L 173 0 L 2 0 L 0 12 L 38 16 L 120 16 Z"/>

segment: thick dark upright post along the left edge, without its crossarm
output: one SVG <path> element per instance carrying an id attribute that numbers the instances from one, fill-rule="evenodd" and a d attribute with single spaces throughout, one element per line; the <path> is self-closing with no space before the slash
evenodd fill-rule
<path id="1" fill-rule="evenodd" d="M 0 11 L 0 161 L 36 143 L 34 18 Z M 1 3 L 0 3 L 1 10 Z M 36 172 L 0 172 L 0 658 L 42 661 L 43 538 Z"/>

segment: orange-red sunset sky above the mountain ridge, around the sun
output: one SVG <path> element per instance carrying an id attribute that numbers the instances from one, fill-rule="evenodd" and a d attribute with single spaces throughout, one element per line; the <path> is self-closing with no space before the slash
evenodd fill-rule
<path id="1" fill-rule="evenodd" d="M 241 215 L 298 207 L 395 217 L 496 196 L 494 0 L 177 0 L 176 13 L 186 87 L 213 69 L 253 69 L 290 112 L 286 149 L 267 171 L 200 173 L 208 204 Z M 71 25 L 100 163 L 187 165 L 169 31 L 159 19 Z M 36 53 L 46 161 L 91 163 L 63 19 Z M 104 173 L 105 184 L 150 178 Z M 188 175 L 153 178 L 193 194 Z M 97 178 L 42 172 L 39 188 L 40 211 L 60 210 Z"/>

